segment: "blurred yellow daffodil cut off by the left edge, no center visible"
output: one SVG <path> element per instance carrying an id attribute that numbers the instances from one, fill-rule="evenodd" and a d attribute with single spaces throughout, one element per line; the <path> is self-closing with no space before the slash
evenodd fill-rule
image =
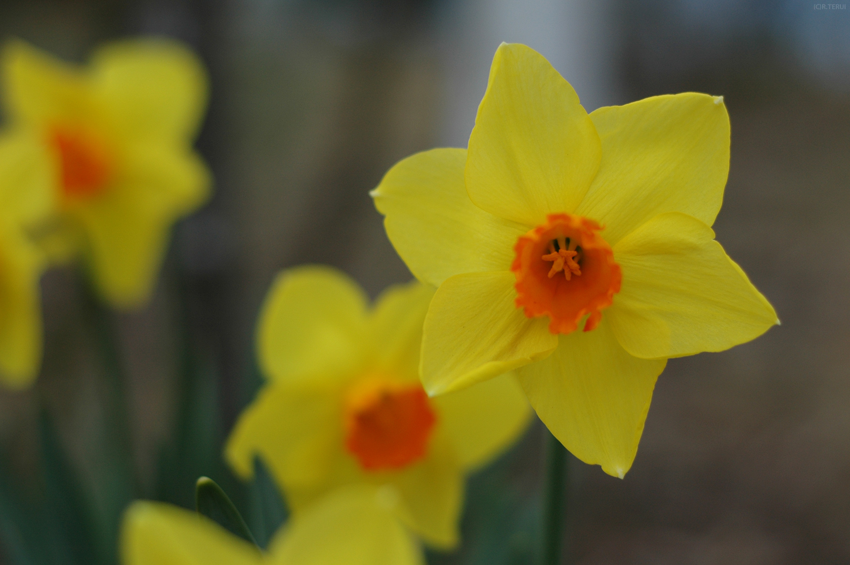
<path id="1" fill-rule="evenodd" d="M 0 382 L 10 388 L 30 385 L 42 357 L 45 258 L 27 235 L 52 206 L 40 164 L 37 152 L 0 136 Z"/>

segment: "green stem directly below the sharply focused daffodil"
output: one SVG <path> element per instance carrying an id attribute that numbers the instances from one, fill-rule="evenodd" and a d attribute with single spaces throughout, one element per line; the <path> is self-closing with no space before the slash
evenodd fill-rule
<path id="1" fill-rule="evenodd" d="M 543 565 L 560 565 L 567 508 L 567 450 L 551 432 L 546 446 Z"/>

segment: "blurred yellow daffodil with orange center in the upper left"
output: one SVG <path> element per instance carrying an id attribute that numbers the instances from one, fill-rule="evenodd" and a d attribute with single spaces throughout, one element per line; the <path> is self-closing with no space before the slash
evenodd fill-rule
<path id="1" fill-rule="evenodd" d="M 42 155 L 31 176 L 50 171 L 43 239 L 82 251 L 117 307 L 144 302 L 171 224 L 207 198 L 209 173 L 190 146 L 206 106 L 201 63 L 175 42 L 139 39 L 77 68 L 16 41 L 0 71 L 8 143 Z"/>

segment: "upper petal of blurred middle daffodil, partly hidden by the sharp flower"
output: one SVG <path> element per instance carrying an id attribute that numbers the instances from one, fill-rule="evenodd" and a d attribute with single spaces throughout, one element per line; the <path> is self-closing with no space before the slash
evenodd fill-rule
<path id="1" fill-rule="evenodd" d="M 381 293 L 370 316 L 376 369 L 419 380 L 422 323 L 433 297 L 433 286 L 412 282 Z"/>

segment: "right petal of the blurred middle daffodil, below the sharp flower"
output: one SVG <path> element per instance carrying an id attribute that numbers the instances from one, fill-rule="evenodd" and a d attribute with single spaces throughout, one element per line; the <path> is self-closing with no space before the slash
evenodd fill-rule
<path id="1" fill-rule="evenodd" d="M 525 431 L 531 410 L 513 372 L 433 398 L 465 470 L 487 464 Z"/>

